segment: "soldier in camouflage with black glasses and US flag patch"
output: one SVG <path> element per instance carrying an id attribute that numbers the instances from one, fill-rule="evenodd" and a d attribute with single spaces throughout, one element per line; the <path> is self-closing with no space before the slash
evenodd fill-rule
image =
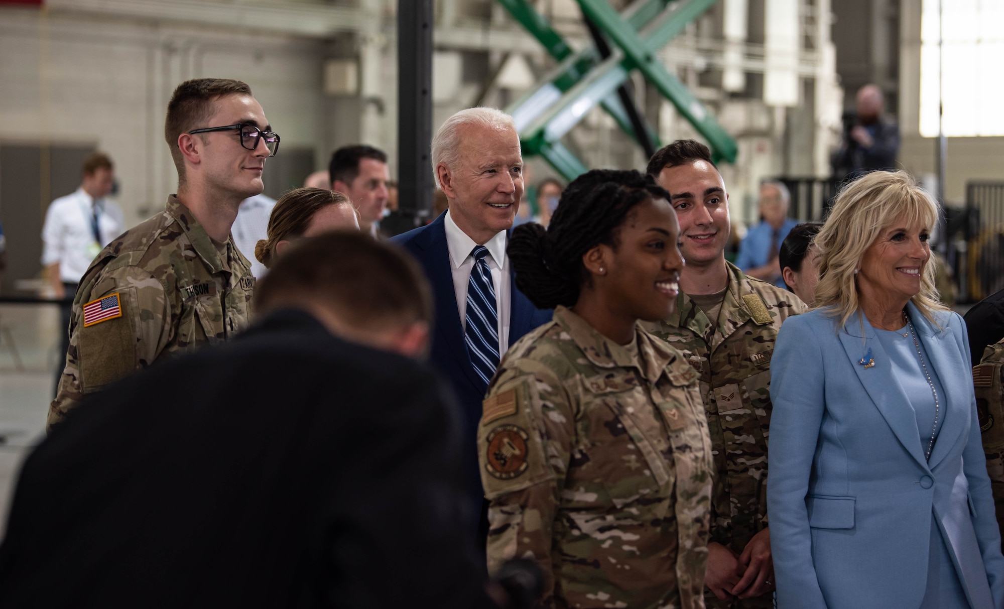
<path id="1" fill-rule="evenodd" d="M 268 130 L 244 82 L 199 78 L 175 89 L 165 136 L 178 194 L 111 241 L 84 273 L 50 426 L 83 394 L 248 325 L 254 276 L 230 227 L 240 202 L 263 189 L 265 158 L 278 146 Z"/>

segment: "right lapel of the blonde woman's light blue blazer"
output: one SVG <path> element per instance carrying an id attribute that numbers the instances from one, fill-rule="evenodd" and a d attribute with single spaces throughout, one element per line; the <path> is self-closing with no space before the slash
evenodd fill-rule
<path id="1" fill-rule="evenodd" d="M 917 330 L 917 339 L 924 346 L 924 352 L 930 362 L 928 371 L 938 376 L 941 381 L 945 395 L 938 395 L 938 403 L 941 407 L 943 423 L 938 438 L 935 440 L 935 447 L 931 451 L 931 468 L 934 469 L 955 447 L 959 436 L 968 431 L 970 423 L 970 408 L 972 407 L 972 381 L 969 375 L 953 374 L 959 370 L 959 363 L 962 361 L 960 350 L 953 350 L 956 345 L 952 337 L 947 336 L 943 330 L 934 326 L 921 312 L 911 302 L 910 319 Z M 954 357 L 953 357 L 954 356 Z M 931 430 L 921 432 L 930 437 Z"/>

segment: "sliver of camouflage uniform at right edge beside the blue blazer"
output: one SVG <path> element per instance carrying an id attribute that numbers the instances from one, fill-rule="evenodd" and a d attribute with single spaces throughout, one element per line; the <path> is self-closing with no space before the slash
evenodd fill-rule
<path id="1" fill-rule="evenodd" d="M 983 432 L 987 473 L 997 509 L 997 524 L 1004 531 L 1004 341 L 987 347 L 983 360 L 973 368 L 976 412 Z"/>

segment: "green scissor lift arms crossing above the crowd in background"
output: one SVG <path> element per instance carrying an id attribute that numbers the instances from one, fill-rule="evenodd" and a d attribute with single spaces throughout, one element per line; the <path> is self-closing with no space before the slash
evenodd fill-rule
<path id="1" fill-rule="evenodd" d="M 624 87 L 637 69 L 708 141 L 716 162 L 734 162 L 735 140 L 657 57 L 715 1 L 638 0 L 618 13 L 606 0 L 576 0 L 594 44 L 575 52 L 530 0 L 498 0 L 558 61 L 540 84 L 506 109 L 516 121 L 523 154 L 540 155 L 567 180 L 587 171 L 560 140 L 596 105 L 644 148 L 658 148 L 658 134 Z"/>

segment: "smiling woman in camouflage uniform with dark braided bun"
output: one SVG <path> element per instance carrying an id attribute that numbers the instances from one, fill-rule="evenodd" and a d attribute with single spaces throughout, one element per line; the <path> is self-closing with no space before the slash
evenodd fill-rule
<path id="1" fill-rule="evenodd" d="M 669 193 L 634 170 L 587 172 L 546 230 L 513 230 L 516 282 L 554 315 L 503 359 L 478 456 L 489 572 L 532 557 L 541 607 L 704 607 L 714 461 L 698 374 L 639 325 L 676 307 L 679 231 Z"/>

